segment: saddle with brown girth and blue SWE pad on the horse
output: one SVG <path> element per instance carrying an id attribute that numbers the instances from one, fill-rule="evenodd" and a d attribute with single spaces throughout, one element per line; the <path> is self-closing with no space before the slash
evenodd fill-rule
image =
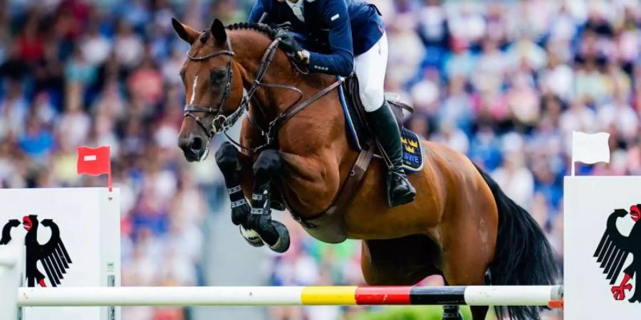
<path id="1" fill-rule="evenodd" d="M 306 229 L 307 233 L 318 240 L 328 243 L 340 243 L 347 239 L 345 220 L 343 219 L 345 207 L 348 206 L 360 188 L 360 183 L 363 180 L 363 176 L 365 176 L 370 161 L 374 158 L 383 158 L 382 151 L 377 150 L 375 147 L 373 135 L 371 134 L 372 128 L 369 127 L 365 117 L 365 107 L 360 101 L 356 76 L 352 75 L 345 78 L 343 84 L 338 87 L 338 93 L 340 105 L 343 107 L 345 114 L 345 132 L 351 137 L 350 142 L 353 148 L 359 151 L 358 158 L 352 166 L 349 176 L 345 179 L 338 196 L 327 210 L 313 218 L 302 218 L 290 210 L 293 218 Z M 402 127 L 402 111 L 407 110 L 412 113 L 414 109 L 398 100 L 387 99 L 387 102 L 392 108 L 401 130 L 405 170 L 408 173 L 421 171 L 423 168 L 423 149 L 420 137 Z M 283 202 L 286 203 L 286 201 Z"/>

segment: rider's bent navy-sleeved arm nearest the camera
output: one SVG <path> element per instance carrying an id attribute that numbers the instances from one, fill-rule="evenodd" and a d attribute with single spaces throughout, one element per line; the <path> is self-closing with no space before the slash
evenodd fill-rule
<path id="1" fill-rule="evenodd" d="M 302 1 L 302 0 L 299 0 Z M 329 27 L 329 54 L 310 53 L 310 71 L 348 76 L 354 70 L 352 27 L 345 0 L 327 0 L 319 6 Z"/>

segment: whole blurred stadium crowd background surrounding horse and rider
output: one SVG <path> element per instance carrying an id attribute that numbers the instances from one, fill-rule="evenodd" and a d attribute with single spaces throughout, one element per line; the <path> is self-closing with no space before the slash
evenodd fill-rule
<path id="1" fill-rule="evenodd" d="M 610 164 L 580 166 L 580 174 L 641 174 L 639 1 L 371 2 L 390 40 L 386 88 L 417 109 L 407 125 L 491 171 L 561 257 L 570 133 L 611 134 Z M 278 217 L 292 225 L 294 240 L 285 255 L 246 245 L 229 220 L 213 157 L 187 164 L 177 148 L 184 100 L 178 70 L 187 46 L 170 18 L 206 28 L 214 17 L 242 21 L 251 4 L 0 0 L 1 186 L 102 186 L 100 178 L 76 176 L 75 146 L 108 144 L 123 198 L 123 285 L 361 283 L 359 242 L 323 245 L 286 214 Z M 141 307 L 124 316 L 434 316 L 416 310 Z"/>

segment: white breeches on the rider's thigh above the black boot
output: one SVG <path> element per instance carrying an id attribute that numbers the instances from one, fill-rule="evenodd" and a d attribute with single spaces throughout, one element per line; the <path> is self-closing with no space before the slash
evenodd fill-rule
<path id="1" fill-rule="evenodd" d="M 382 34 L 370 50 L 354 58 L 360 100 L 365 111 L 376 111 L 385 99 L 385 69 L 387 69 L 387 35 Z"/>

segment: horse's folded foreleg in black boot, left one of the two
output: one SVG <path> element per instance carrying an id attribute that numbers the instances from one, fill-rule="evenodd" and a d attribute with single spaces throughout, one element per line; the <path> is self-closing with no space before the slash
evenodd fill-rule
<path id="1" fill-rule="evenodd" d="M 225 186 L 231 201 L 231 222 L 240 225 L 241 235 L 250 245 L 261 247 L 263 240 L 256 231 L 246 228 L 251 207 L 241 188 L 242 171 L 251 170 L 251 160 L 235 146 L 224 142 L 216 151 L 216 163 L 225 178 Z"/>

